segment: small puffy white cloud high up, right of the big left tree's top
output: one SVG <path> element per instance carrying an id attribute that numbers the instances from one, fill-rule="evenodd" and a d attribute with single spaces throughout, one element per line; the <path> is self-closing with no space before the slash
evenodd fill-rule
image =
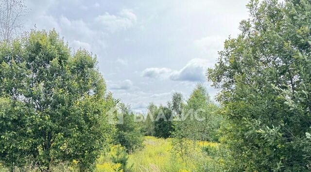
<path id="1" fill-rule="evenodd" d="M 95 18 L 95 22 L 98 22 L 104 27 L 104 29 L 111 32 L 126 30 L 132 27 L 136 21 L 136 15 L 129 9 L 121 10 L 118 15 L 105 13 L 104 15 Z"/>

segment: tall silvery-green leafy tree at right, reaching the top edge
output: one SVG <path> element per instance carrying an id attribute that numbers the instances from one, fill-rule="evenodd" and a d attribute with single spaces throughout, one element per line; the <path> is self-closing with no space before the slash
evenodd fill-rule
<path id="1" fill-rule="evenodd" d="M 311 1 L 251 0 L 208 79 L 220 89 L 230 171 L 310 171 Z"/>

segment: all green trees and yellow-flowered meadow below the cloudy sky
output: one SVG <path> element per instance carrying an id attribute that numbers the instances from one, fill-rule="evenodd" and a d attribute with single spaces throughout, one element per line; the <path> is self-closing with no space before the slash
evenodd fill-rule
<path id="1" fill-rule="evenodd" d="M 197 84 L 148 114 L 54 30 L 1 41 L 0 171 L 311 171 L 311 1 L 247 7 L 207 71 L 219 104 Z"/>

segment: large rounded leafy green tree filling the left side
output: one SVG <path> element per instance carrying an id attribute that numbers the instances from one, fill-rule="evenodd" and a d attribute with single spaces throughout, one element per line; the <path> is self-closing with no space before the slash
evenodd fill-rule
<path id="1" fill-rule="evenodd" d="M 104 78 L 96 57 L 71 55 L 56 31 L 0 43 L 0 161 L 49 170 L 77 160 L 92 168 L 110 140 Z"/>

